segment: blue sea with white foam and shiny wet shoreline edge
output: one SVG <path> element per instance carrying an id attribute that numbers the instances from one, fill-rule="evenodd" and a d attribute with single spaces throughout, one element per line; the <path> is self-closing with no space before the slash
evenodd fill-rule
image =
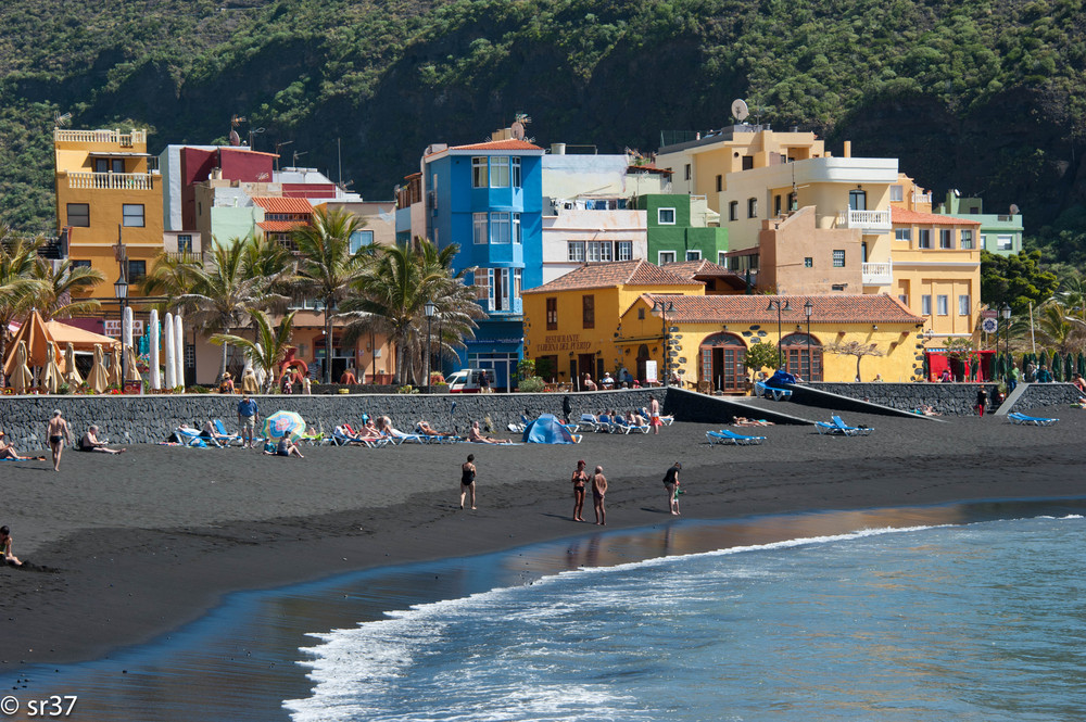
<path id="1" fill-rule="evenodd" d="M 599 532 L 230 595 L 0 676 L 72 719 L 1083 720 L 1086 499 Z"/>

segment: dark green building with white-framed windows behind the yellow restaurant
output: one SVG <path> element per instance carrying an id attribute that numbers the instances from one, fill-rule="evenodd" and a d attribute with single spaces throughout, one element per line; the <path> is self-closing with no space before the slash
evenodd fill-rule
<path id="1" fill-rule="evenodd" d="M 710 210 L 704 195 L 648 193 L 637 197 L 648 226 L 648 261 L 662 266 L 680 261 L 723 263 L 728 229 L 720 228 L 720 214 Z"/>

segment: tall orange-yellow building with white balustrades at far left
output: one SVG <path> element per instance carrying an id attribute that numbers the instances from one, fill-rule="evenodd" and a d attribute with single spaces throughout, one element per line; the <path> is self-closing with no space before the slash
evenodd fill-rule
<path id="1" fill-rule="evenodd" d="M 56 128 L 53 152 L 67 256 L 101 270 L 105 282 L 91 295 L 112 299 L 122 267 L 138 283 L 163 250 L 161 176 L 149 164 L 147 132 Z"/>

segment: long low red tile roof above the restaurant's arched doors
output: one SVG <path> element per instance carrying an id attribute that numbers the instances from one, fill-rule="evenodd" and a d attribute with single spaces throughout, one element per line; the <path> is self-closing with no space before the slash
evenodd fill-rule
<path id="1" fill-rule="evenodd" d="M 811 302 L 812 324 L 923 324 L 900 301 L 885 293 L 833 295 L 667 295 L 645 293 L 641 296 L 652 307 L 654 301 L 674 304 L 668 320 L 687 324 L 776 324 L 776 307 L 770 301 L 788 304 L 782 311 L 785 326 L 806 327 L 804 304 Z"/>

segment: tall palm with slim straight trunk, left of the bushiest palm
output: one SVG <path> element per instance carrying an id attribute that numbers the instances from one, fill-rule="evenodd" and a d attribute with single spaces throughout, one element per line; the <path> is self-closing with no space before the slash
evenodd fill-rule
<path id="1" fill-rule="evenodd" d="M 339 302 L 366 269 L 365 252 L 351 253 L 351 236 L 363 227 L 358 217 L 336 208 L 317 208 L 313 223 L 293 233 L 300 254 L 299 289 L 325 304 L 325 383 L 332 380 L 332 317 Z"/>

